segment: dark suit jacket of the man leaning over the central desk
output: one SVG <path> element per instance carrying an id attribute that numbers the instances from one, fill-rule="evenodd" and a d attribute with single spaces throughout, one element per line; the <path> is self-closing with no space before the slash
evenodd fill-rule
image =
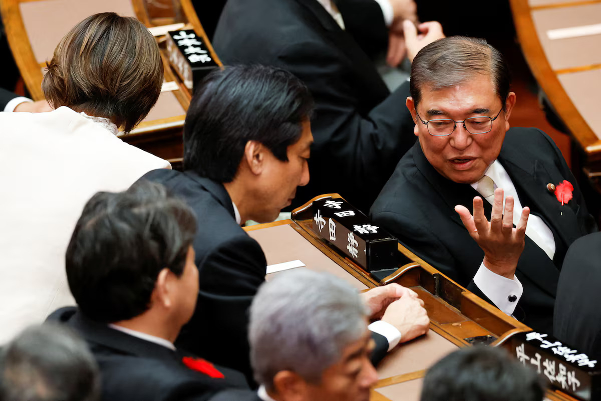
<path id="1" fill-rule="evenodd" d="M 182 197 L 197 216 L 194 239 L 200 290 L 191 321 L 177 345 L 207 360 L 245 373 L 252 381 L 248 345 L 248 309 L 265 280 L 267 262 L 261 246 L 236 223 L 230 195 L 218 182 L 194 172 L 159 169 L 140 179 L 159 182 Z M 373 363 L 388 350 L 379 334 Z"/>

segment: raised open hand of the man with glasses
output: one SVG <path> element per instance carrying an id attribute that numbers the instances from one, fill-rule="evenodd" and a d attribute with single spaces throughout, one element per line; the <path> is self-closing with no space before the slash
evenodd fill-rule
<path id="1" fill-rule="evenodd" d="M 517 261 L 524 249 L 524 237 L 528 224 L 529 208 L 523 208 L 517 226 L 513 227 L 513 197 L 505 199 L 503 210 L 503 190 L 496 188 L 490 222 L 484 216 L 483 200 L 474 197 L 474 216 L 462 205 L 457 205 L 455 211 L 468 230 L 469 235 L 484 251 L 484 266 L 499 276 L 513 279 Z"/>

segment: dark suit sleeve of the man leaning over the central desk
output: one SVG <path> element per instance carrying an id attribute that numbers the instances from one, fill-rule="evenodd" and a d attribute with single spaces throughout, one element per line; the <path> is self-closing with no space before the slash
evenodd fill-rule
<path id="1" fill-rule="evenodd" d="M 251 382 L 248 309 L 264 282 L 266 265 L 261 247 L 245 233 L 197 260 L 198 303 L 178 338 L 183 348 L 238 370 Z"/>

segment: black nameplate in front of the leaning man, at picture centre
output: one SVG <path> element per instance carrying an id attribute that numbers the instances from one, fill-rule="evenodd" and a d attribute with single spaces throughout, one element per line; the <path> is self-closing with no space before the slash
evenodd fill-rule
<path id="1" fill-rule="evenodd" d="M 397 239 L 346 200 L 315 200 L 313 213 L 313 231 L 377 279 L 397 269 Z"/>

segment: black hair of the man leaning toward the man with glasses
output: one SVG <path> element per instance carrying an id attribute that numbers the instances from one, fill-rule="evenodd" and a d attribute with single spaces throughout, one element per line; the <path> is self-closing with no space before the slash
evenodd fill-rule
<path id="1" fill-rule="evenodd" d="M 213 71 L 186 114 L 184 169 L 231 182 L 249 140 L 288 161 L 287 148 L 301 138 L 302 122 L 312 112 L 307 86 L 288 71 L 263 65 Z"/>

